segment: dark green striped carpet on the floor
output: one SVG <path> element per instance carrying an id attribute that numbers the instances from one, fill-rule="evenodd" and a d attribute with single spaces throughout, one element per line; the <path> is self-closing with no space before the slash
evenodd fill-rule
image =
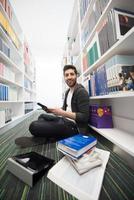
<path id="1" fill-rule="evenodd" d="M 55 161 L 61 158 L 62 155 L 57 152 L 54 142 L 24 149 L 15 145 L 16 138 L 30 135 L 29 124 L 37 118 L 38 114 L 34 113 L 0 135 L 0 200 L 76 200 L 48 180 L 46 176 L 43 176 L 33 188 L 30 188 L 7 171 L 8 157 L 16 154 L 35 151 Z M 100 136 L 95 132 L 91 134 L 98 138 L 98 148 L 111 153 L 99 200 L 134 200 L 134 170 L 130 169 L 124 160 L 112 151 L 111 142 L 106 139 L 100 140 Z"/>

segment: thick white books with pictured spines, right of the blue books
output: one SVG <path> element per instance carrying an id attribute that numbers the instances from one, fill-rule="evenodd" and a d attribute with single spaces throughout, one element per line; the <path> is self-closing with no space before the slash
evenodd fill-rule
<path id="1" fill-rule="evenodd" d="M 108 93 L 134 90 L 133 64 L 133 55 L 115 55 L 105 63 Z"/>

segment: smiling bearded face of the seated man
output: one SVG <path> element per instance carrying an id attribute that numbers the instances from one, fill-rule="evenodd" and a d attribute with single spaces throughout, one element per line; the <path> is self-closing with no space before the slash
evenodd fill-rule
<path id="1" fill-rule="evenodd" d="M 68 69 L 64 73 L 65 82 L 69 87 L 74 87 L 77 81 L 77 75 L 73 69 Z"/>

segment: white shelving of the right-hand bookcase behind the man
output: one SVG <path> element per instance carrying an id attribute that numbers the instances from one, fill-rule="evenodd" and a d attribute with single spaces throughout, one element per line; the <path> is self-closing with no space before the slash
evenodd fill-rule
<path id="1" fill-rule="evenodd" d="M 101 4 L 100 4 L 101 3 Z M 101 6 L 100 6 L 101 5 Z M 134 2 L 132 0 L 78 0 L 74 1 L 73 13 L 70 18 L 75 23 L 70 23 L 69 31 L 67 37 L 74 38 L 79 35 L 79 41 L 77 40 L 77 45 L 69 43 L 69 48 L 67 49 L 68 54 L 65 55 L 66 62 L 63 64 L 74 64 L 78 71 L 80 71 L 80 77 L 78 82 L 82 83 L 87 90 L 88 81 L 90 80 L 91 74 L 96 72 L 102 65 L 105 65 L 111 58 L 116 55 L 122 56 L 134 56 L 134 27 L 128 30 L 124 35 L 121 35 L 119 39 L 114 41 L 114 43 L 107 47 L 107 49 L 102 53 L 100 47 L 100 36 L 99 33 L 105 27 L 106 20 L 111 19 L 112 12 L 115 12 L 115 9 L 122 12 L 127 11 L 127 14 L 132 14 L 134 16 Z M 96 12 L 97 10 L 97 12 Z M 72 18 L 75 16 L 75 19 Z M 76 18 L 77 16 L 77 18 Z M 110 17 L 109 17 L 110 16 Z M 94 18 L 95 17 L 95 18 Z M 77 23 L 76 23 L 77 20 Z M 105 22 L 105 23 L 104 23 Z M 109 22 L 109 21 L 108 21 Z M 115 20 L 115 23 L 116 20 Z M 77 24 L 77 28 L 75 26 Z M 74 26 L 72 28 L 72 26 Z M 71 28 L 71 29 L 70 29 Z M 71 30 L 71 32 L 70 32 Z M 72 30 L 75 30 L 72 32 Z M 77 31 L 77 32 L 76 32 Z M 114 30 L 115 31 L 115 30 Z M 108 29 L 107 29 L 108 33 Z M 96 59 L 89 64 L 89 50 L 93 49 L 93 45 L 96 42 L 97 44 L 97 53 Z M 110 43 L 111 41 L 109 41 Z M 78 44 L 79 43 L 79 44 Z M 68 46 L 68 41 L 66 41 L 66 47 Z M 74 51 L 74 48 L 75 51 Z M 72 51 L 73 50 L 73 51 Z M 74 53 L 75 52 L 75 53 Z M 87 56 L 88 59 L 83 62 L 84 56 Z M 73 58 L 77 59 L 74 61 Z M 70 59 L 71 58 L 71 59 Z M 127 61 L 126 61 L 127 62 Z M 119 64 L 119 63 L 118 63 Z M 86 66 L 87 65 L 87 66 Z M 116 65 L 116 64 L 115 64 Z M 134 62 L 131 64 L 121 64 L 125 65 L 134 65 Z M 79 67 L 81 69 L 79 70 Z M 118 66 L 117 66 L 118 67 Z M 64 90 L 63 90 L 64 93 Z M 91 104 L 99 105 L 111 105 L 112 106 L 112 116 L 114 128 L 104 129 L 92 127 L 99 134 L 112 141 L 115 145 L 119 146 L 121 149 L 129 153 L 131 156 L 134 156 L 134 91 L 114 91 L 108 92 L 107 94 L 100 94 L 96 96 L 90 96 Z"/>

